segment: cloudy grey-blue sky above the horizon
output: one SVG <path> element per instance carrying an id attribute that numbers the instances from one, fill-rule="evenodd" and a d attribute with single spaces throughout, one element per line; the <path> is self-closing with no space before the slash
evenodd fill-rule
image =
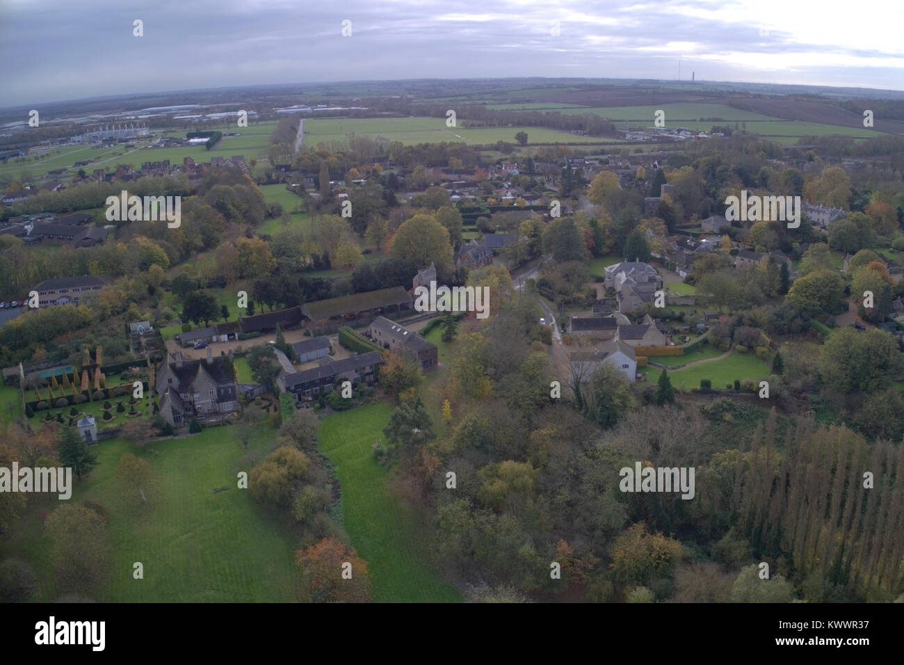
<path id="1" fill-rule="evenodd" d="M 698 80 L 904 90 L 902 25 L 901 0 L 0 0 L 0 106 L 303 81 L 675 79 L 679 60 Z"/>

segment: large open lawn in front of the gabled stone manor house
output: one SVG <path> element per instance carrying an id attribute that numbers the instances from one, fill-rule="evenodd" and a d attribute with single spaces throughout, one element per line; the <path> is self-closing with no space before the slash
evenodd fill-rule
<path id="1" fill-rule="evenodd" d="M 250 450 L 265 453 L 273 431 L 263 425 Z M 113 554 L 108 582 L 99 602 L 118 603 L 255 603 L 298 600 L 300 571 L 294 565 L 292 534 L 285 515 L 262 510 L 247 491 L 237 489 L 243 451 L 230 428 L 212 428 L 182 439 L 149 443 L 137 450 L 118 439 L 93 449 L 99 465 L 76 482 L 72 501 L 91 498 L 108 508 Z M 159 455 L 154 451 L 159 451 Z M 150 462 L 159 485 L 157 503 L 133 514 L 119 499 L 114 470 L 132 452 Z M 212 489 L 230 489 L 213 493 Z M 43 536 L 42 512 L 58 499 L 29 499 L 24 518 L 0 541 L 0 559 L 23 558 L 33 565 L 43 601 L 56 596 Z M 132 577 L 132 565 L 144 564 L 145 577 Z"/>

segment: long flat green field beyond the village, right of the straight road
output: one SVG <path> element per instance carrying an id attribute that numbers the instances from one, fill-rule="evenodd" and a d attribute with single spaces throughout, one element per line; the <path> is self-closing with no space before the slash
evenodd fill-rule
<path id="1" fill-rule="evenodd" d="M 406 146 L 439 141 L 487 144 L 514 143 L 514 135 L 525 131 L 529 143 L 598 143 L 611 138 L 579 137 L 567 131 L 538 127 L 463 128 L 447 127 L 445 118 L 343 118 L 305 121 L 305 145 L 344 141 L 352 136 L 401 141 Z"/>

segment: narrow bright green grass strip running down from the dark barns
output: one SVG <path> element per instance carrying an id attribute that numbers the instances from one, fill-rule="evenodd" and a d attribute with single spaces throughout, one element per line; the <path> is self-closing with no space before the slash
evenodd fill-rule
<path id="1" fill-rule="evenodd" d="M 393 497 L 388 473 L 373 459 L 372 444 L 385 441 L 389 404 L 332 413 L 320 423 L 321 450 L 342 483 L 344 527 L 367 561 L 373 600 L 381 603 L 457 602 L 460 594 L 428 563 L 413 510 Z"/>

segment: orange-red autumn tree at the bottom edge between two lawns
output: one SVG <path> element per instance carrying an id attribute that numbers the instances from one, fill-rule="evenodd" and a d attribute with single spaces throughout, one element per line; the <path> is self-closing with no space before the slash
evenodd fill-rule
<path id="1" fill-rule="evenodd" d="M 323 538 L 299 549 L 295 563 L 301 567 L 308 598 L 312 603 L 367 603 L 370 577 L 365 562 L 354 548 L 335 538 Z"/>

